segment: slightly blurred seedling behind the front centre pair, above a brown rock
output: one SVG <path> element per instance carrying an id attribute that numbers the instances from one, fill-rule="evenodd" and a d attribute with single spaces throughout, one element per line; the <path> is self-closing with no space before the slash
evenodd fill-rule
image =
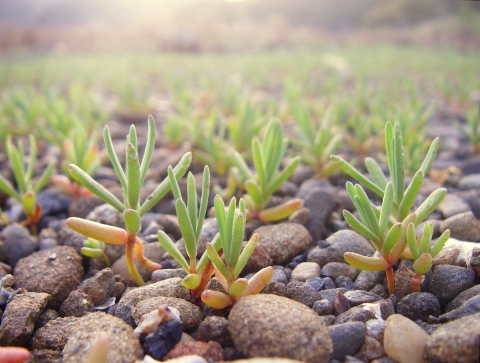
<path id="1" fill-rule="evenodd" d="M 288 139 L 283 137 L 280 123 L 271 122 L 262 142 L 256 137 L 252 140 L 255 174 L 250 171 L 240 153 L 232 150 L 233 164 L 245 180 L 244 188 L 247 194 L 244 198 L 248 209 L 247 219 L 255 218 L 264 222 L 280 221 L 302 205 L 300 199 L 294 199 L 276 207 L 266 208 L 273 193 L 290 178 L 300 163 L 300 157 L 295 157 L 282 171 L 279 170 L 287 145 Z"/>

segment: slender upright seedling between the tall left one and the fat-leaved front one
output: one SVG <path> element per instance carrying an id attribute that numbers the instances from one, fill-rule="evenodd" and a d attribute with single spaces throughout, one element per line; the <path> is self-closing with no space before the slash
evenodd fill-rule
<path id="1" fill-rule="evenodd" d="M 200 259 L 197 264 L 197 250 L 202 232 L 203 221 L 207 212 L 208 196 L 210 188 L 210 170 L 205 166 L 203 170 L 202 195 L 200 198 L 200 208 L 197 206 L 197 190 L 195 188 L 195 179 L 193 174 L 189 173 L 187 177 L 187 203 L 182 199 L 182 194 L 178 186 L 177 179 L 173 169 L 168 168 L 168 178 L 175 198 L 175 209 L 178 217 L 178 224 L 182 232 L 183 241 L 189 262 L 185 259 L 178 247 L 173 243 L 170 237 L 163 231 L 157 232 L 158 240 L 162 247 L 167 251 L 180 266 L 187 272 L 187 276 L 182 280 L 182 285 L 191 291 L 194 300 L 199 300 L 200 295 L 205 289 L 210 277 L 213 274 L 213 268 L 208 262 L 207 255 Z M 217 238 L 218 239 L 218 238 Z M 216 243 L 215 243 L 216 244 Z"/>

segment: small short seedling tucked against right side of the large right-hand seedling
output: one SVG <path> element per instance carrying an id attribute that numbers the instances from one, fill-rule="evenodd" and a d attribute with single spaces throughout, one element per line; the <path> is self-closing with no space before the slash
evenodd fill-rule
<path id="1" fill-rule="evenodd" d="M 412 258 L 413 277 L 412 292 L 420 291 L 420 284 L 425 279 L 424 275 L 432 268 L 433 258 L 440 253 L 445 242 L 450 238 L 450 230 L 447 229 L 442 233 L 432 246 L 433 224 L 425 223 L 423 233 L 419 236 L 415 235 L 415 225 L 409 223 L 407 227 L 407 243 L 408 248 L 403 253 L 403 257 Z"/>

